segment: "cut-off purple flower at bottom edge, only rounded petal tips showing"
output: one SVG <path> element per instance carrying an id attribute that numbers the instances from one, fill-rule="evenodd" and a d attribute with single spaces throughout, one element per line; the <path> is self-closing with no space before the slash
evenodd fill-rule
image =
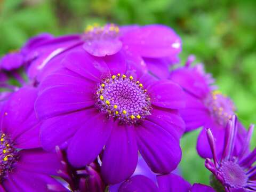
<path id="1" fill-rule="evenodd" d="M 170 173 L 157 175 L 157 184 L 144 175 L 135 175 L 125 181 L 119 188 L 119 192 L 148 191 L 148 192 L 214 192 L 214 189 L 199 183 L 193 186 L 179 175 Z"/>

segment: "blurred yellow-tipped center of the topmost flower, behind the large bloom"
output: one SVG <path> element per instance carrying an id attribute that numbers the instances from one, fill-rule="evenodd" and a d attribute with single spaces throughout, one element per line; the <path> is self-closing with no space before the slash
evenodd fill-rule
<path id="1" fill-rule="evenodd" d="M 88 25 L 84 31 L 84 40 L 114 39 L 119 35 L 119 27 L 113 23 L 100 27 L 97 23 Z"/>

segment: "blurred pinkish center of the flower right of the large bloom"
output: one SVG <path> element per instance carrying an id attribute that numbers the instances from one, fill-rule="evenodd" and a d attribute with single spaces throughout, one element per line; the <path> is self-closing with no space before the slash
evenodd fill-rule
<path id="1" fill-rule="evenodd" d="M 213 91 L 205 99 L 205 106 L 209 109 L 212 117 L 222 126 L 225 126 L 236 110 L 236 107 L 225 95 L 219 91 Z"/>

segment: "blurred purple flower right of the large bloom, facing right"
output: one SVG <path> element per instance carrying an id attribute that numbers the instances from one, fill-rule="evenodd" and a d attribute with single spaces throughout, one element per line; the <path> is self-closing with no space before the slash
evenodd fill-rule
<path id="1" fill-rule="evenodd" d="M 186 108 L 180 114 L 186 123 L 186 131 L 203 127 L 197 140 L 198 154 L 203 157 L 212 157 L 207 145 L 205 129 L 209 127 L 218 145 L 217 154 L 221 154 L 226 123 L 236 111 L 233 101 L 214 86 L 214 79 L 205 74 L 202 64 L 190 66 L 193 58 L 189 58 L 185 67 L 173 70 L 170 79 L 179 84 L 186 93 Z M 245 129 L 238 123 L 238 139 L 236 150 L 241 147 Z"/>

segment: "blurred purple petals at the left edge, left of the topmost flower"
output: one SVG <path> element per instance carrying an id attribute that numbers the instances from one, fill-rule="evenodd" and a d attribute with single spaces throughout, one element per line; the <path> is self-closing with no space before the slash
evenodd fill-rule
<path id="1" fill-rule="evenodd" d="M 34 52 L 34 49 L 36 49 L 40 44 L 51 38 L 52 35 L 50 34 L 40 34 L 30 38 L 19 51 L 11 51 L 1 58 L 0 69 L 10 71 L 28 64 L 29 61 L 35 59 L 37 56 L 33 55 L 33 57 L 31 57 L 30 55 L 30 57 L 28 57 L 29 53 Z"/>

